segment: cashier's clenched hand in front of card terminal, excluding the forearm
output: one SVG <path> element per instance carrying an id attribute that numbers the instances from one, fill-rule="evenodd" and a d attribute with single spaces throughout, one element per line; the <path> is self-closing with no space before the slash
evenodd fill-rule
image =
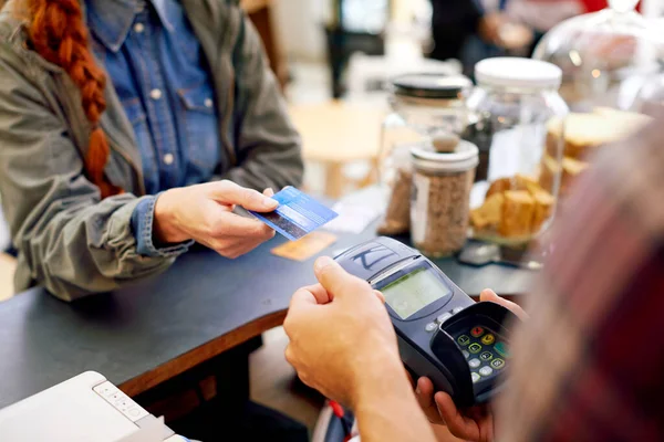
<path id="1" fill-rule="evenodd" d="M 319 259 L 314 272 L 320 284 L 295 292 L 283 323 L 286 358 L 300 379 L 353 406 L 376 372 L 405 378 L 383 295 L 330 257 Z"/>

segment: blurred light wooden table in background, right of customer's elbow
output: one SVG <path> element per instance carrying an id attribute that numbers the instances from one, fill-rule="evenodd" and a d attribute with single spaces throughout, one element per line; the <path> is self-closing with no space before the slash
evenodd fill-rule
<path id="1" fill-rule="evenodd" d="M 386 110 L 342 102 L 291 105 L 289 109 L 302 136 L 304 159 L 325 168 L 326 196 L 341 197 L 347 183 L 362 188 L 375 182 Z M 351 161 L 367 161 L 369 175 L 360 180 L 345 177 L 343 167 Z"/>

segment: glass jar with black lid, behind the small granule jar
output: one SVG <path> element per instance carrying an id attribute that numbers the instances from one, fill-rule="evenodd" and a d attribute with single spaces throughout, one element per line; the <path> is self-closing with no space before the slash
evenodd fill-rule
<path id="1" fill-rule="evenodd" d="M 452 150 L 467 124 L 465 76 L 407 74 L 393 81 L 390 113 L 381 134 L 378 176 L 387 199 L 381 234 L 407 233 L 411 227 L 411 148 Z"/>

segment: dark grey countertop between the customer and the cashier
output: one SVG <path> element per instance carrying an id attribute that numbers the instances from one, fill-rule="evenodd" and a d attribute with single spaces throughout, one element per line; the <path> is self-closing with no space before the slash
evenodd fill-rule
<path id="1" fill-rule="evenodd" d="M 372 236 L 373 229 L 339 234 L 322 254 Z M 41 288 L 0 303 L 0 408 L 86 370 L 121 386 L 282 313 L 292 293 L 314 281 L 314 259 L 294 262 L 270 253 L 282 242 L 276 238 L 235 261 L 191 251 L 159 276 L 73 304 Z M 496 264 L 476 269 L 452 259 L 438 264 L 468 294 L 487 286 L 522 294 L 530 277 L 530 272 Z"/>

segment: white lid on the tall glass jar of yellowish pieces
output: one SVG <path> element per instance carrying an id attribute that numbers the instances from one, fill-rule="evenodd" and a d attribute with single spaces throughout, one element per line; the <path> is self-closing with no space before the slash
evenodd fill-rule
<path id="1" fill-rule="evenodd" d="M 562 71 L 554 64 L 516 56 L 485 59 L 475 65 L 477 83 L 505 87 L 559 88 Z"/>

